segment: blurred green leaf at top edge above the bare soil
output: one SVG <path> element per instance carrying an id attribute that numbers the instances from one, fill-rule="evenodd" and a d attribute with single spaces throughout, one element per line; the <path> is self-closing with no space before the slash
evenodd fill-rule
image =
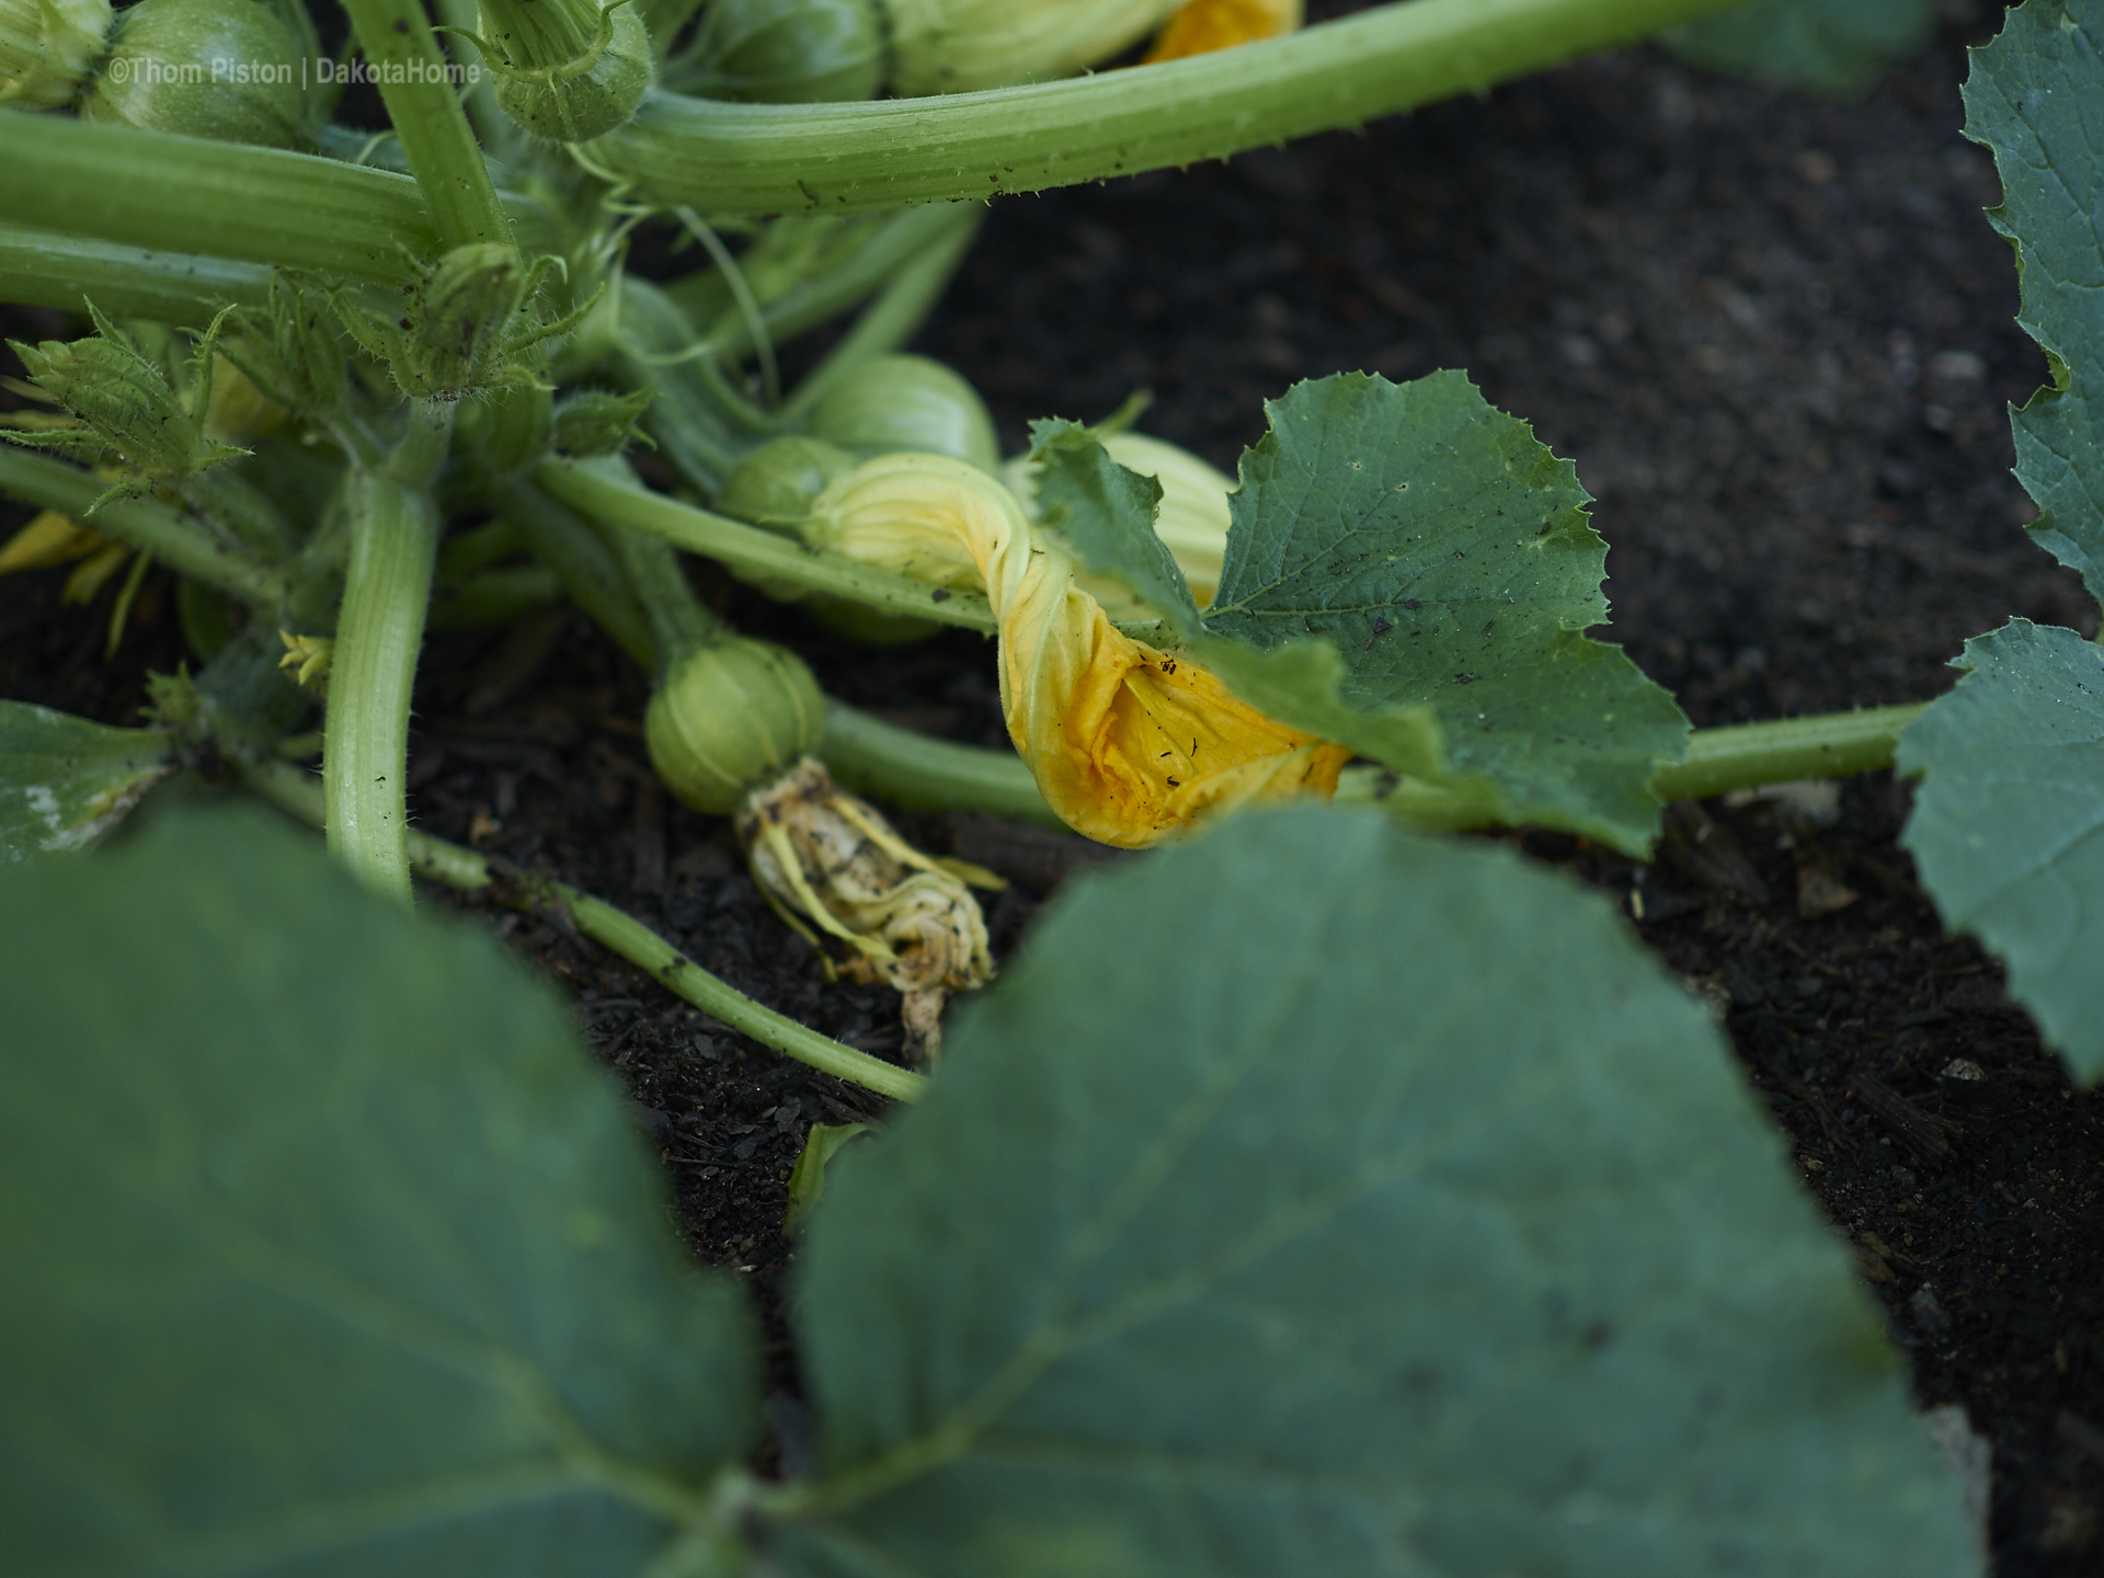
<path id="1" fill-rule="evenodd" d="M 1852 99 L 1931 38 L 1936 0 L 1761 0 L 1675 27 L 1662 42 L 1711 72 Z"/>

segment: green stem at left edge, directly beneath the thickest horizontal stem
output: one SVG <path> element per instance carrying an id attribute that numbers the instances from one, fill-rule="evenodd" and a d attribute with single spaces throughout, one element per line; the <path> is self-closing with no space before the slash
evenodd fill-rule
<path id="1" fill-rule="evenodd" d="M 229 301 L 265 305 L 269 269 L 0 225 L 0 301 L 204 326 Z"/>

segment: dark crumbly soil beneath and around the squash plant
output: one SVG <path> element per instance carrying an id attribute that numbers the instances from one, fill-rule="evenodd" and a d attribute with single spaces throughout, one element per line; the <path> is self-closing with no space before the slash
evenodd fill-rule
<path id="1" fill-rule="evenodd" d="M 1959 137 L 1963 42 L 1988 32 L 1984 6 L 1955 6 L 1938 48 L 1856 105 L 1628 50 L 1357 137 L 1006 200 L 919 347 L 987 391 L 1010 446 L 1033 417 L 1100 417 L 1145 385 L 1142 427 L 1225 467 L 1294 379 L 1464 366 L 1578 461 L 1614 545 L 1612 635 L 1698 724 L 1929 696 L 1963 640 L 2011 614 L 2096 627 L 2020 530 L 2030 507 L 2007 476 L 2005 402 L 2045 368 L 1980 217 L 1992 166 Z M 112 589 L 82 614 L 59 608 L 59 579 L 0 581 L 0 694 L 124 722 L 141 671 L 181 659 L 168 589 L 149 579 L 103 663 Z M 985 642 L 869 652 L 701 581 L 749 629 L 795 640 L 837 694 L 1002 739 Z M 442 638 L 412 747 L 423 825 L 598 892 L 762 1002 L 896 1056 L 896 999 L 829 985 L 724 825 L 656 789 L 644 696 L 572 616 Z M 1614 892 L 1721 1016 L 1921 1401 L 1961 1403 L 1992 1443 L 1997 1574 L 2104 1572 L 2104 1132 L 1995 964 L 1942 936 L 1896 846 L 1906 802 L 1873 774 L 1830 804 L 1683 806 L 1643 867 L 1521 842 Z M 1004 951 L 1100 854 L 987 818 L 901 821 L 1014 879 L 989 915 Z M 882 1102 L 551 922 L 490 917 L 574 989 L 696 1254 L 770 1309 L 795 1456 L 783 1185 L 812 1121 Z"/>

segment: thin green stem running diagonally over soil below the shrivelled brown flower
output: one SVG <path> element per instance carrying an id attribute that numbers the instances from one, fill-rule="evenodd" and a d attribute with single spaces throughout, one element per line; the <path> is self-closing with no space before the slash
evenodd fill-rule
<path id="1" fill-rule="evenodd" d="M 309 825 L 324 821 L 324 795 L 320 781 L 290 762 L 269 757 L 236 755 L 242 778 L 280 810 L 290 812 Z M 417 875 L 442 882 L 461 892 L 480 892 L 490 886 L 490 863 L 459 844 L 410 831 L 408 858 Z M 547 896 L 568 911 L 576 930 L 604 949 L 619 953 L 629 964 L 642 966 L 661 980 L 673 995 L 701 1008 L 705 1014 L 730 1025 L 734 1031 L 753 1037 L 762 1046 L 772 1046 L 797 1063 L 806 1063 L 821 1073 L 829 1073 L 863 1090 L 875 1090 L 894 1100 L 917 1100 L 928 1090 L 924 1075 L 901 1069 L 852 1046 L 818 1035 L 818 1031 L 797 1025 L 772 1008 L 762 1008 L 730 983 L 711 976 L 688 959 L 665 938 L 612 905 L 600 903 L 562 882 L 547 884 Z"/>

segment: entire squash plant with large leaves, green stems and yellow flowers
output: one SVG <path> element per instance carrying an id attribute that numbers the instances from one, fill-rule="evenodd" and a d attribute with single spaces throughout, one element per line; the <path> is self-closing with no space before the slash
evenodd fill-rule
<path id="1" fill-rule="evenodd" d="M 0 1506 L 32 1570 L 1980 1572 L 1700 1008 L 1601 898 L 1441 833 L 1641 856 L 1671 800 L 1898 757 L 1948 919 L 2093 1077 L 2096 648 L 2018 623 L 1929 707 L 1690 730 L 1586 635 L 1576 467 L 1458 370 L 1296 385 L 1231 482 L 1132 410 L 1004 463 L 903 353 L 989 196 L 1664 29 L 1847 88 L 1929 6 L 345 13 L 356 63 L 301 0 L 0 0 L 0 299 L 95 330 L 17 347 L 44 408 L 0 490 L 44 513 L 6 553 L 160 566 L 198 663 L 145 728 L 0 705 Z M 2056 377 L 2020 473 L 2093 591 L 2100 42 L 2098 0 L 2026 0 L 1967 90 Z M 335 124 L 345 78 L 387 137 Z M 631 274 L 642 227 L 707 265 Z M 783 387 L 776 345 L 850 311 Z M 865 640 L 993 635 L 1014 753 L 825 699 L 682 551 Z M 425 629 L 558 600 L 652 673 L 652 764 L 736 818 L 783 919 L 898 987 L 926 1073 L 410 825 Z M 194 806 L 76 858 L 194 772 L 335 858 Z M 1164 848 L 980 989 L 985 873 L 850 789 Z M 663 1231 L 547 991 L 410 913 L 412 875 L 501 884 L 911 1102 L 806 1159 L 814 1462 L 755 1469 L 732 1277 Z M 1485 991 L 1513 962 L 1534 991 Z"/>

